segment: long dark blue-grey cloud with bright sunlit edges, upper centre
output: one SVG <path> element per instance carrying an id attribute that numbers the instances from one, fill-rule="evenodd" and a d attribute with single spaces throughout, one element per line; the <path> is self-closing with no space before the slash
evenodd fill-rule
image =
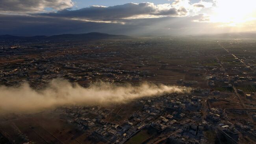
<path id="1" fill-rule="evenodd" d="M 176 9 L 171 5 L 154 5 L 153 3 L 140 4 L 124 4 L 112 7 L 91 6 L 78 10 L 62 10 L 56 13 L 43 13 L 41 16 L 51 17 L 69 17 L 69 18 L 87 18 L 91 20 L 113 20 L 127 18 L 136 15 L 164 15 L 164 16 L 180 16 L 187 13 L 184 7 Z"/>

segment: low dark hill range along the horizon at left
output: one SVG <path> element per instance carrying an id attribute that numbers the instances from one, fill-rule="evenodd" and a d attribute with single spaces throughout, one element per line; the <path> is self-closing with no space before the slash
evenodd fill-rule
<path id="1" fill-rule="evenodd" d="M 101 40 L 101 39 L 129 39 L 131 37 L 124 35 L 112 35 L 100 32 L 90 32 L 85 34 L 60 34 L 54 36 L 11 36 L 2 35 L 0 41 L 74 41 L 74 40 Z"/>

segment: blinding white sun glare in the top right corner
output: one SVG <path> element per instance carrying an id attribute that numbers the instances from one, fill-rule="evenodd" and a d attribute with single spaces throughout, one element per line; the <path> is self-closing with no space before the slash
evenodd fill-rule
<path id="1" fill-rule="evenodd" d="M 256 19 L 256 0 L 215 0 L 211 22 L 236 25 Z"/>

